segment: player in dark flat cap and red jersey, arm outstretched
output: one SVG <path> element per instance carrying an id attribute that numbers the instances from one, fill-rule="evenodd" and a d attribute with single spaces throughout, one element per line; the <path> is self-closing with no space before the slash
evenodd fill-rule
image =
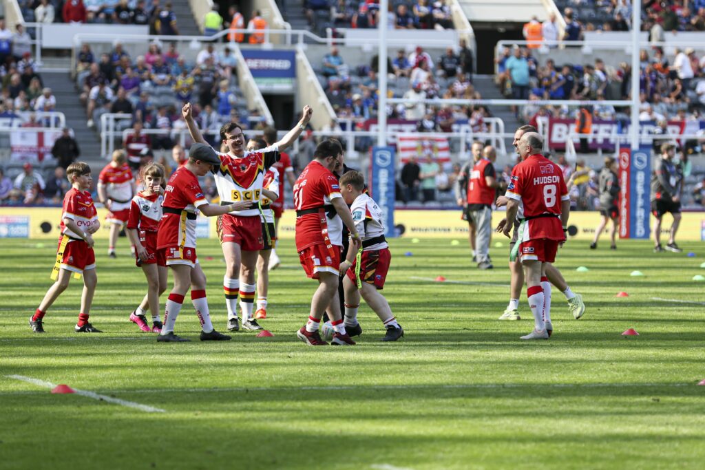
<path id="1" fill-rule="evenodd" d="M 212 217 L 249 208 L 250 201 L 239 201 L 226 206 L 208 204 L 203 195 L 198 177 L 220 166 L 218 155 L 207 144 L 193 144 L 188 161 L 169 178 L 161 206 L 163 216 L 157 229 L 157 252 L 164 256 L 166 266 L 171 268 L 174 287 L 166 300 L 164 326 L 157 337 L 159 342 L 189 341 L 173 333 L 176 317 L 181 310 L 183 298 L 191 288 L 191 302 L 201 322 L 201 341 L 230 340 L 213 328 L 206 299 L 206 276 L 196 256 L 196 209 L 204 216 Z"/>

